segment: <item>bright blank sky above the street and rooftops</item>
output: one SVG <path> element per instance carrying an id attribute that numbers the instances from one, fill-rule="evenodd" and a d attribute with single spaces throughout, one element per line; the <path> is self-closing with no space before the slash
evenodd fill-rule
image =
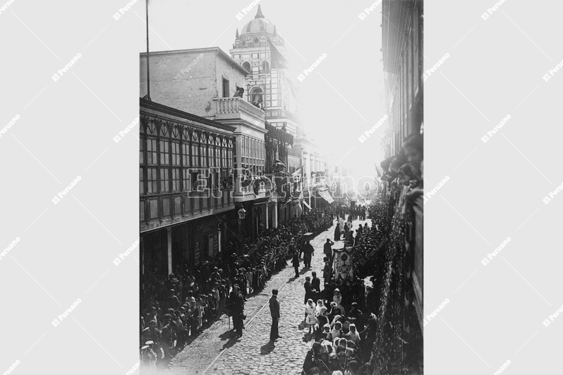
<path id="1" fill-rule="evenodd" d="M 256 1 L 256 0 L 254 0 Z M 382 160 L 379 127 L 363 143 L 358 139 L 383 115 L 381 4 L 359 15 L 373 1 L 186 1 L 149 0 L 150 51 L 220 47 L 228 55 L 258 5 L 285 39 L 290 69 L 301 102 L 302 126 L 327 156 L 329 167 L 352 167 L 352 177 L 374 176 Z M 252 9 L 241 20 L 243 8 Z M 145 1 L 132 8 L 145 19 Z M 139 51 L 146 51 L 145 23 L 139 20 Z M 327 57 L 300 82 L 297 75 L 323 53 Z"/>

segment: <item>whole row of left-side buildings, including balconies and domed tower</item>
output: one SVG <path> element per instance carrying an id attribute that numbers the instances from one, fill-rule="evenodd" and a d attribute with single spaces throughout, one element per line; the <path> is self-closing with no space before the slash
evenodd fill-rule
<path id="1" fill-rule="evenodd" d="M 300 215 L 304 191 L 305 209 L 320 197 L 313 194 L 320 182 L 311 177 L 324 172 L 324 160 L 301 133 L 291 82 L 283 69 L 270 68 L 266 37 L 285 52 L 259 6 L 237 31 L 230 56 L 217 47 L 140 54 L 141 96 L 150 84 L 150 100 L 140 99 L 141 252 L 148 274 L 196 267 L 230 239 L 256 238 Z M 244 95 L 235 95 L 240 88 Z M 290 172 L 303 166 L 296 174 L 306 182 L 292 183 L 280 160 Z M 241 209 L 246 215 L 239 220 Z"/>

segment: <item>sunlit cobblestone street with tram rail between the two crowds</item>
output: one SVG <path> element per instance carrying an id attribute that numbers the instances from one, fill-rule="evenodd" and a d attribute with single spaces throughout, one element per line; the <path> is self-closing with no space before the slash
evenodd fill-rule
<path id="1" fill-rule="evenodd" d="M 361 221 L 361 224 L 364 222 Z M 357 229 L 360 221 L 355 220 L 353 224 L 353 229 Z M 244 307 L 248 316 L 245 321 L 247 326 L 242 338 L 234 340 L 234 332 L 229 331 L 224 315 L 176 356 L 171 373 L 199 375 L 208 367 L 205 375 L 301 373 L 307 351 L 314 342 L 314 337 L 307 333 L 308 328 L 304 324 L 303 283 L 305 276 L 310 276 L 311 271 L 316 271 L 322 287 L 323 244 L 327 238 L 334 239 L 334 225 L 311 240 L 315 248 L 311 269 L 304 269 L 301 262 L 300 277 L 296 279 L 294 269 L 288 263 L 285 269 L 272 276 L 260 294 L 248 298 Z M 342 247 L 342 241 L 337 242 L 334 247 Z M 279 334 L 282 338 L 270 342 L 271 318 L 270 309 L 266 304 L 273 288 L 279 289 Z M 219 354 L 221 355 L 215 363 L 209 366 Z"/>

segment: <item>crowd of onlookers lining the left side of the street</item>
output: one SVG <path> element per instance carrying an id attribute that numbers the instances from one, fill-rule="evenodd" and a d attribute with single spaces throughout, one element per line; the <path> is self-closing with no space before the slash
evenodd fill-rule
<path id="1" fill-rule="evenodd" d="M 233 316 L 242 336 L 244 302 L 260 292 L 269 277 L 307 243 L 306 233 L 321 233 L 332 225 L 336 207 L 312 209 L 294 216 L 256 240 L 233 240 L 222 258 L 196 267 L 177 266 L 166 280 L 146 279 L 141 288 L 141 355 L 149 367 L 167 367 L 191 338 L 222 314 Z"/>

